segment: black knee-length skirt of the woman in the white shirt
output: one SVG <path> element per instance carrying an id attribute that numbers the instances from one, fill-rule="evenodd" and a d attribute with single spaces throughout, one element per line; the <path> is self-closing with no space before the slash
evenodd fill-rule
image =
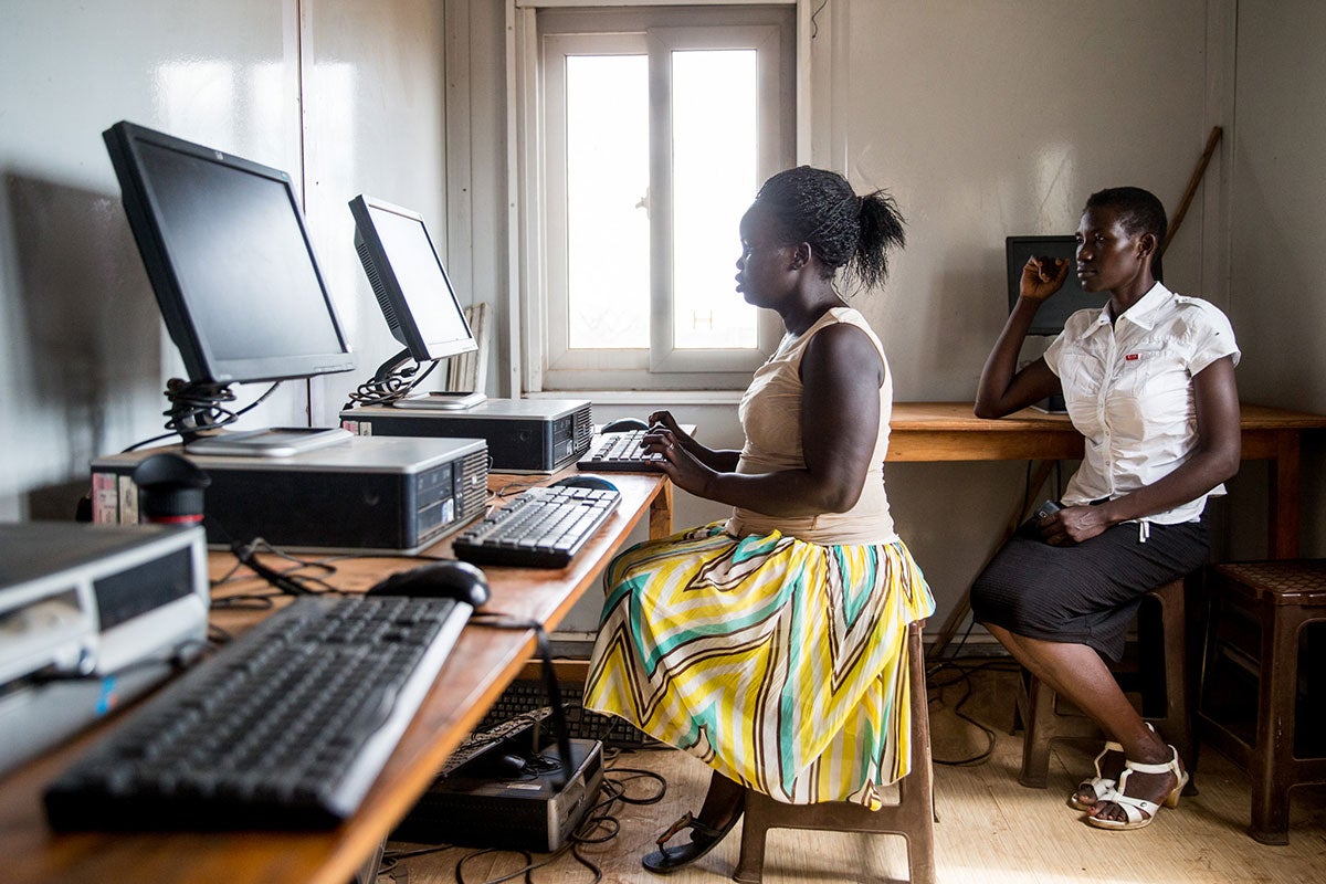
<path id="1" fill-rule="evenodd" d="M 1074 546 L 1050 546 L 1025 522 L 972 584 L 972 616 L 1013 635 L 1086 644 L 1118 660 L 1142 596 L 1201 567 L 1205 521 L 1124 522 Z"/>

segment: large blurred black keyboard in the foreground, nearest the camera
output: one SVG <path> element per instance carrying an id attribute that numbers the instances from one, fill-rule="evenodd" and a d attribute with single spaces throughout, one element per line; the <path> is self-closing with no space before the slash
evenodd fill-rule
<path id="1" fill-rule="evenodd" d="M 359 807 L 469 614 L 444 598 L 296 599 L 56 779 L 50 826 L 337 826 Z"/>

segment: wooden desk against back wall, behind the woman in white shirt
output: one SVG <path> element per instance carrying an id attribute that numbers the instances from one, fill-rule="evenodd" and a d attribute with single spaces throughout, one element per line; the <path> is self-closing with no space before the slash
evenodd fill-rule
<path id="1" fill-rule="evenodd" d="M 1326 428 L 1326 415 L 1266 406 L 1240 406 L 1244 460 L 1270 461 L 1268 555 L 1298 555 L 1299 437 Z M 899 402 L 894 404 L 890 461 L 951 460 L 1081 460 L 1082 436 L 1066 415 L 1024 408 L 1008 417 L 984 420 L 968 402 Z M 1034 489 L 1033 489 L 1034 492 Z"/>

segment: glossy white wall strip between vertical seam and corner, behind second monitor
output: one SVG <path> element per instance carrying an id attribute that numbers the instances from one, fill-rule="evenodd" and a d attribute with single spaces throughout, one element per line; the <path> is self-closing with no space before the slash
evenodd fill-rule
<path id="1" fill-rule="evenodd" d="M 309 233 L 359 359 L 351 374 L 312 382 L 313 421 L 335 425 L 346 394 L 403 347 L 363 274 L 347 203 L 367 193 L 415 209 L 451 264 L 446 40 L 442 7 L 430 0 L 302 0 L 300 7 Z M 456 294 L 469 302 L 459 282 Z"/>

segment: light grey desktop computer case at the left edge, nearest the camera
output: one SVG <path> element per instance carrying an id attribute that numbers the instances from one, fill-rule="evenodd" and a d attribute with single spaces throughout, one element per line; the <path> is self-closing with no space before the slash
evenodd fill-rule
<path id="1" fill-rule="evenodd" d="M 0 525 L 0 773 L 198 656 L 208 603 L 196 525 Z"/>

